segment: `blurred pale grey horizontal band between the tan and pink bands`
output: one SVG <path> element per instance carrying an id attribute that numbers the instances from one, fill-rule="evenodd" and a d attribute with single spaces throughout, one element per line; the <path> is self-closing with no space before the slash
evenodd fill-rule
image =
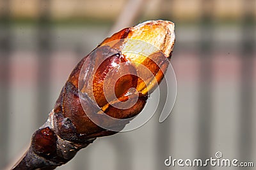
<path id="1" fill-rule="evenodd" d="M 36 26 L 17 25 L 12 29 L 12 47 L 13 50 L 36 50 Z M 52 36 L 49 37 L 52 42 L 53 50 L 74 50 L 81 47 L 85 52 L 90 52 L 98 45 L 108 33 L 108 26 L 52 26 Z M 241 26 L 215 25 L 212 28 L 213 49 L 219 50 L 237 50 L 241 45 Z M 253 29 L 253 28 L 252 28 Z M 180 26 L 176 24 L 176 44 L 174 50 L 194 50 L 200 47 L 202 35 L 198 26 Z M 253 31 L 252 31 L 253 33 Z M 256 33 L 252 34 L 256 40 Z M 88 41 L 90 40 L 90 41 Z M 90 43 L 89 43 L 90 42 Z"/>

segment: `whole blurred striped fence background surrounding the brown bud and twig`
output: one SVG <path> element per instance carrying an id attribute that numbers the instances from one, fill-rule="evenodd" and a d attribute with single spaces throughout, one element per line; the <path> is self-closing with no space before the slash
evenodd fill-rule
<path id="1" fill-rule="evenodd" d="M 1 0 L 0 169 L 22 155 L 83 56 L 119 29 L 156 19 L 175 22 L 172 114 L 97 139 L 58 169 L 202 169 L 164 160 L 217 151 L 256 166 L 255 0 Z"/>

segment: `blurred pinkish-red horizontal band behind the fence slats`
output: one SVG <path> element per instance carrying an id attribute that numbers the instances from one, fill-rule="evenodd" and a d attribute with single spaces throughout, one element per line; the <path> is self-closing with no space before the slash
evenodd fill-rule
<path id="1" fill-rule="evenodd" d="M 36 54 L 16 51 L 10 58 L 10 84 L 36 86 L 36 81 L 38 81 L 36 77 L 38 58 Z M 51 75 L 48 75 L 51 77 L 51 84 L 64 83 L 78 60 L 76 53 L 72 51 L 52 52 L 51 65 L 45 68 L 51 70 Z M 198 81 L 198 69 L 202 61 L 196 52 L 175 52 L 171 62 L 179 81 Z M 256 54 L 253 63 L 256 66 Z M 1 64 L 0 72 L 4 72 L 1 70 L 3 68 Z M 236 54 L 219 53 L 212 57 L 212 69 L 213 78 L 216 81 L 239 81 L 241 60 Z M 254 72 L 256 75 L 256 69 Z M 256 80 L 256 77 L 254 78 Z M 3 80 L 0 80 L 0 84 L 1 82 Z"/>

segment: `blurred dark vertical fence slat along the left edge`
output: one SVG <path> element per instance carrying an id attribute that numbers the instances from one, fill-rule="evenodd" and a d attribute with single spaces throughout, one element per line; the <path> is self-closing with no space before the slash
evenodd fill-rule
<path id="1" fill-rule="evenodd" d="M 10 2 L 5 0 L 0 13 L 0 165 L 7 164 L 8 122 L 10 114 L 10 54 L 12 52 L 12 31 L 10 29 Z M 1 168 L 1 167 L 0 167 Z"/>

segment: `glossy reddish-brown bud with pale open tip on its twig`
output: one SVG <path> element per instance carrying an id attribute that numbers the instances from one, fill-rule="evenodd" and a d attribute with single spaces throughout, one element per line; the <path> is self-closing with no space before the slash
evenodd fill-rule
<path id="1" fill-rule="evenodd" d="M 124 47 L 134 47 L 128 40 L 147 42 L 159 50 L 152 51 L 149 58 L 143 55 L 134 57 L 125 53 Z M 128 27 L 106 38 L 74 68 L 54 109 L 49 113 L 48 120 L 32 135 L 28 151 L 12 169 L 55 169 L 71 160 L 77 151 L 88 146 L 97 137 L 120 132 L 141 112 L 148 93 L 161 82 L 174 41 L 173 23 L 163 20 Z M 138 43 L 136 49 L 148 52 L 143 43 Z M 129 63 L 140 63 L 152 73 L 147 74 L 136 65 L 122 68 L 122 64 Z M 113 69 L 115 72 L 111 72 Z M 136 72 L 145 72 L 145 77 L 135 76 Z M 107 84 L 105 92 L 103 85 L 104 81 L 108 81 L 108 73 L 115 85 Z M 150 77 L 152 74 L 156 82 Z M 122 76 L 118 77 L 120 75 Z M 144 79 L 150 81 L 141 81 Z M 109 93 L 113 86 L 115 91 Z M 129 91 L 131 88 L 137 91 Z M 106 98 L 108 95 L 116 99 L 109 102 Z M 127 101 L 135 102 L 126 109 L 111 105 Z M 103 113 L 121 121 L 112 120 Z"/>

